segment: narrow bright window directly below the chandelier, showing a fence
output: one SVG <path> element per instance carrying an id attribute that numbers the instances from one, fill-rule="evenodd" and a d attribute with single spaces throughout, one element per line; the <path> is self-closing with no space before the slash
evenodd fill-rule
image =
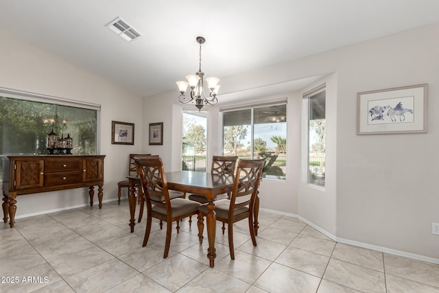
<path id="1" fill-rule="evenodd" d="M 206 172 L 207 112 L 183 110 L 182 170 Z"/>

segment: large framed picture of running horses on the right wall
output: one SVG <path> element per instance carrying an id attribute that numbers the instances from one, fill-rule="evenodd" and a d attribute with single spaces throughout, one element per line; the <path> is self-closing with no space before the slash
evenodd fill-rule
<path id="1" fill-rule="evenodd" d="M 428 84 L 357 93 L 357 134 L 427 132 Z"/>

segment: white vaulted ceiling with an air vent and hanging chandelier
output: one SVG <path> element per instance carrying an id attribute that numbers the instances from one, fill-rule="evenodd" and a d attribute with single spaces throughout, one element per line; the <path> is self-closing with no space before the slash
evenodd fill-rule
<path id="1" fill-rule="evenodd" d="M 118 16 L 142 36 L 108 30 Z M 437 0 L 0 1 L 0 30 L 142 97 L 198 71 L 196 36 L 221 79 L 438 21 Z"/>

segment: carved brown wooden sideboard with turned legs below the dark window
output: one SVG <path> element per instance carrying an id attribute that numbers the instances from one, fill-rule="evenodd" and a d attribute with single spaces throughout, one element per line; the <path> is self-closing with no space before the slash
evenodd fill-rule
<path id="1" fill-rule="evenodd" d="M 3 222 L 14 227 L 16 196 L 38 192 L 89 187 L 93 206 L 97 185 L 99 209 L 102 208 L 105 156 L 40 155 L 4 156 Z"/>

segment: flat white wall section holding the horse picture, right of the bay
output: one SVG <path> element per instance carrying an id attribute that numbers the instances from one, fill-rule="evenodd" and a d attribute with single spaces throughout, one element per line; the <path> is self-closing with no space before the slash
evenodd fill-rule
<path id="1" fill-rule="evenodd" d="M 337 50 L 338 237 L 439 259 L 438 35 L 429 25 Z M 357 92 L 422 83 L 428 133 L 356 134 Z"/>

